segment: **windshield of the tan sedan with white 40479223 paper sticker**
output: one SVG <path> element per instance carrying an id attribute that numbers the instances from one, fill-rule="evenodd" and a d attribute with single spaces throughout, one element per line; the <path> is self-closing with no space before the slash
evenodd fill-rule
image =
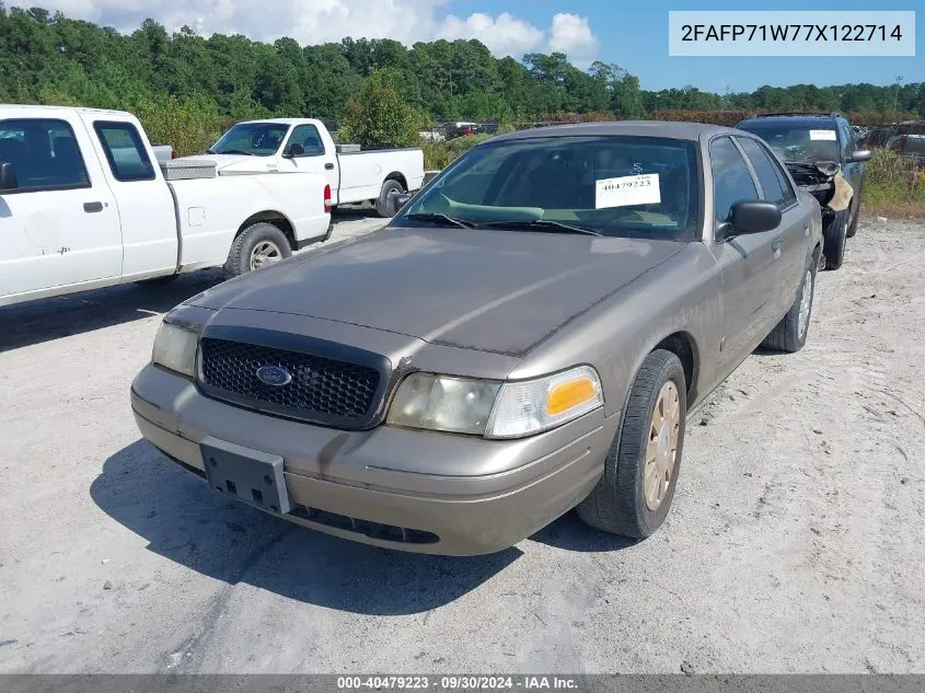
<path id="1" fill-rule="evenodd" d="M 451 164 L 395 224 L 555 232 L 567 224 L 608 236 L 693 240 L 695 152 L 694 142 L 655 137 L 488 142 Z"/>

